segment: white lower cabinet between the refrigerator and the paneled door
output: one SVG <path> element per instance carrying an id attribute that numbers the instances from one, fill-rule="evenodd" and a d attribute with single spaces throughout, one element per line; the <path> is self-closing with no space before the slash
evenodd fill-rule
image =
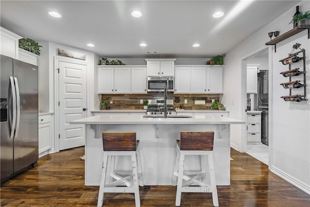
<path id="1" fill-rule="evenodd" d="M 52 148 L 52 114 L 39 115 L 39 158 Z"/>

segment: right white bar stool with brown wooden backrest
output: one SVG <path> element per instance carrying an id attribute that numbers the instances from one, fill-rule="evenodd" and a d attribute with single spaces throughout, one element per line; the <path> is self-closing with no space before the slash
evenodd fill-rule
<path id="1" fill-rule="evenodd" d="M 213 205 L 218 207 L 217 185 L 213 165 L 213 131 L 181 131 L 180 140 L 177 140 L 176 159 L 172 185 L 175 186 L 176 178 L 177 190 L 175 206 L 181 204 L 182 192 L 212 192 Z M 200 172 L 184 171 L 184 159 L 186 155 L 200 155 Z M 206 157 L 208 158 L 208 172 L 206 171 Z M 178 162 L 179 159 L 179 162 Z M 209 179 L 206 179 L 207 174 Z M 185 180 L 183 182 L 183 180 Z M 210 180 L 210 183 L 207 181 Z"/>

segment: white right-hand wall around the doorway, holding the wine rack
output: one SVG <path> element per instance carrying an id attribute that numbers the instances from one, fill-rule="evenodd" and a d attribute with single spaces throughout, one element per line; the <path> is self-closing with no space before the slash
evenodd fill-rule
<path id="1" fill-rule="evenodd" d="M 309 1 L 304 0 L 298 3 L 299 10 L 302 12 L 310 10 Z M 293 45 L 298 42 L 302 48 L 306 49 L 307 54 L 307 96 L 310 98 L 310 40 L 307 30 L 296 34 L 279 44 L 277 52 L 274 52 L 274 46 L 265 46 L 270 40 L 268 32 L 279 31 L 280 34 L 293 29 L 292 24 L 288 24 L 295 13 L 295 6 L 289 11 L 279 16 L 274 21 L 263 27 L 248 39 L 227 52 L 225 57 L 224 71 L 224 95 L 222 102 L 226 108 L 231 111 L 230 117 L 244 119 L 243 100 L 244 73 L 242 71 L 242 59 L 248 57 L 254 51 L 265 47 L 272 47 L 269 53 L 269 80 L 271 80 L 271 98 L 269 103 L 269 148 L 272 152 L 269 154 L 269 169 L 293 183 L 298 188 L 310 193 L 310 100 L 307 102 L 285 102 L 280 96 L 288 95 L 289 91 L 281 88 L 281 82 L 287 79 L 281 77 L 281 71 L 287 70 L 287 66 L 282 65 L 279 60 L 287 57 L 291 52 Z M 270 49 L 269 49 L 270 51 Z M 296 93 L 301 93 L 296 90 Z M 242 126 L 232 126 L 231 144 L 237 149 L 243 147 Z"/>

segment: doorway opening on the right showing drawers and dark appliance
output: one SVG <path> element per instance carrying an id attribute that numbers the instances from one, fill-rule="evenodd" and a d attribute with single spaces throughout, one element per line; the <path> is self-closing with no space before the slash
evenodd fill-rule
<path id="1" fill-rule="evenodd" d="M 268 48 L 245 59 L 246 63 L 246 153 L 268 165 Z M 256 118 L 255 118 L 256 116 Z"/>

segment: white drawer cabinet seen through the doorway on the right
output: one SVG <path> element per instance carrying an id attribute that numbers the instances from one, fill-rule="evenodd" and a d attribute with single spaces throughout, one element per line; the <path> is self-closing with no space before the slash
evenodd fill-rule
<path id="1" fill-rule="evenodd" d="M 261 111 L 247 112 L 247 142 L 262 143 L 261 141 Z"/>

